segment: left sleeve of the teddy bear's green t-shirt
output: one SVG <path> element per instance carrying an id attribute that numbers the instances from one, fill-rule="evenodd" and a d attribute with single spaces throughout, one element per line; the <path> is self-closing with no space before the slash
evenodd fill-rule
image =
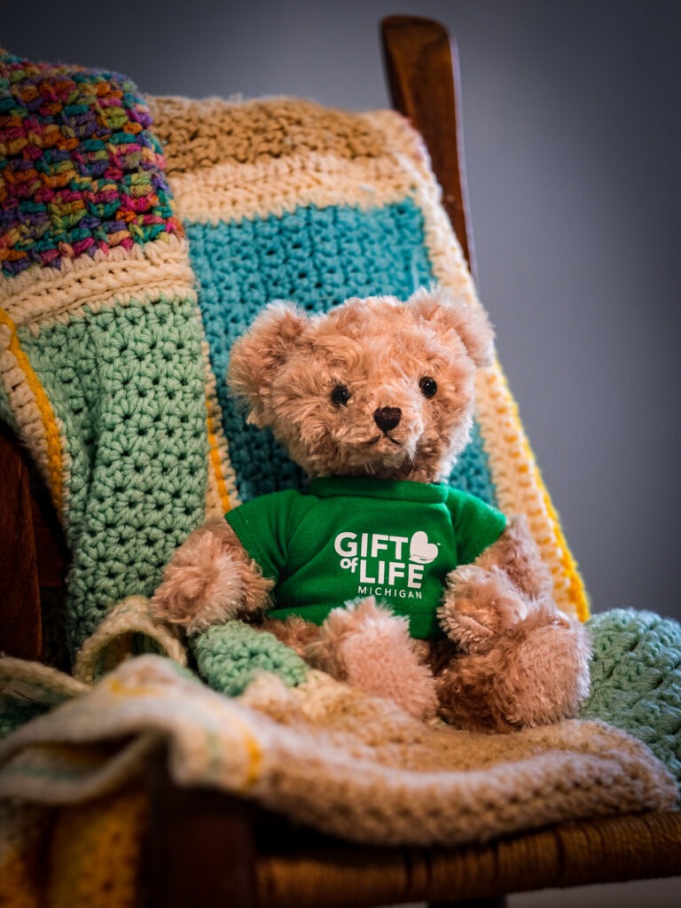
<path id="1" fill-rule="evenodd" d="M 289 539 L 313 504 L 313 496 L 287 489 L 252 498 L 224 518 L 262 574 L 279 580 L 289 560 Z"/>

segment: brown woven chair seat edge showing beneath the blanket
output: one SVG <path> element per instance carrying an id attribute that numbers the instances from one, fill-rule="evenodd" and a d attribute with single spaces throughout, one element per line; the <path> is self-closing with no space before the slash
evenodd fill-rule
<path id="1" fill-rule="evenodd" d="M 452 850 L 299 837 L 260 856 L 257 885 L 263 905 L 360 908 L 671 876 L 680 865 L 681 812 L 674 811 L 560 824 Z"/>

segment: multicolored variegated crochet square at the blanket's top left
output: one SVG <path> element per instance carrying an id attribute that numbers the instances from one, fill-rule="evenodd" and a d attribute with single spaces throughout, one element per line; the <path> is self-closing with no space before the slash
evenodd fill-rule
<path id="1" fill-rule="evenodd" d="M 124 76 L 0 53 L 0 267 L 177 232 L 151 117 Z"/>

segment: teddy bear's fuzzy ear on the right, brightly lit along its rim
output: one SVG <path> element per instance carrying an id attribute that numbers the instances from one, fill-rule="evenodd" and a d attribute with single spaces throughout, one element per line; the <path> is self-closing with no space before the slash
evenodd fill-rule
<path id="1" fill-rule="evenodd" d="M 475 302 L 455 297 L 446 287 L 421 287 L 407 304 L 423 321 L 440 331 L 456 331 L 476 366 L 494 361 L 494 329 L 487 312 Z"/>

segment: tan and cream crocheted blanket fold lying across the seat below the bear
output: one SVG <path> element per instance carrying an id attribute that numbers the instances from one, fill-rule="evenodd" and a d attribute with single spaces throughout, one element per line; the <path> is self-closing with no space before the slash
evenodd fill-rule
<path id="1" fill-rule="evenodd" d="M 25 679 L 65 702 L 0 744 L 0 799 L 96 797 L 166 741 L 178 784 L 247 795 L 357 842 L 485 842 L 676 802 L 650 750 L 600 721 L 512 735 L 429 727 L 317 671 L 297 687 L 263 674 L 229 698 L 161 656 L 129 659 L 90 690 L 54 669 Z"/>

